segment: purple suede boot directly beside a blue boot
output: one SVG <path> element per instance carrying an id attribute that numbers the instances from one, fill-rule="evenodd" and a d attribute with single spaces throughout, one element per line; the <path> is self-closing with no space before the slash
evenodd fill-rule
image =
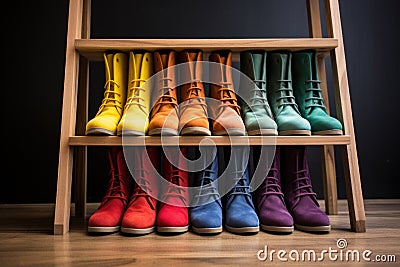
<path id="1" fill-rule="evenodd" d="M 276 147 L 271 168 L 257 188 L 255 196 L 261 229 L 276 233 L 293 232 L 293 218 L 286 209 L 281 191 L 279 147 Z"/>

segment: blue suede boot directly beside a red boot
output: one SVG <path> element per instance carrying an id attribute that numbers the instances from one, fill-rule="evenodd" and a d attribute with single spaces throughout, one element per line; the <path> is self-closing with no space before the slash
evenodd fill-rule
<path id="1" fill-rule="evenodd" d="M 189 210 L 193 232 L 199 234 L 217 234 L 222 232 L 222 204 L 218 192 L 218 156 L 213 162 L 195 174 L 193 186 L 198 187 L 192 196 L 192 208 Z"/>

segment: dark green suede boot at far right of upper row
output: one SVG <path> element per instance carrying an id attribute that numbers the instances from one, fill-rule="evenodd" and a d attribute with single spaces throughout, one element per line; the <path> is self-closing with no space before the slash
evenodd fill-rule
<path id="1" fill-rule="evenodd" d="M 318 80 L 317 57 L 314 51 L 293 53 L 293 90 L 304 118 L 311 124 L 312 134 L 340 135 L 340 121 L 328 115 Z"/>

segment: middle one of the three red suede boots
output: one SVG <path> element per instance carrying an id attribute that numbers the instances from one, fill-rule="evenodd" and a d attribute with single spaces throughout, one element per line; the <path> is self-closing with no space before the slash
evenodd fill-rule
<path id="1" fill-rule="evenodd" d="M 122 219 L 121 232 L 148 234 L 155 230 L 159 182 L 160 151 L 158 147 L 134 147 L 133 176 L 136 181 L 128 208 Z M 154 167 L 154 169 L 153 169 Z"/>

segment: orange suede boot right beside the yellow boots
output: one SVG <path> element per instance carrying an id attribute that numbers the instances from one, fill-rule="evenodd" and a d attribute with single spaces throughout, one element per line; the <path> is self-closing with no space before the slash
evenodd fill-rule
<path id="1" fill-rule="evenodd" d="M 179 117 L 176 96 L 175 51 L 154 52 L 155 95 L 150 115 L 149 135 L 178 135 Z M 158 90 L 157 90 L 158 89 Z"/>

